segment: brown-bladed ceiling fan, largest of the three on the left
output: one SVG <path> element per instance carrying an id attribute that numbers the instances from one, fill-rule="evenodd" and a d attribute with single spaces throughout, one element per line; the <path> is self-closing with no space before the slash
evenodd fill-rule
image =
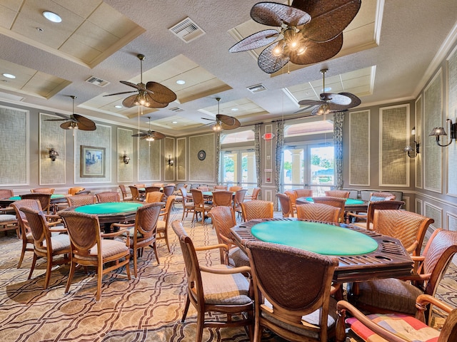
<path id="1" fill-rule="evenodd" d="M 167 88 L 166 86 L 153 81 L 150 81 L 146 84 L 143 83 L 143 61 L 145 56 L 141 53 L 136 56 L 140 60 L 140 83 L 135 84 L 129 81 L 119 81 L 126 86 L 135 88 L 136 90 L 123 91 L 121 93 L 108 94 L 104 96 L 136 93 L 135 95 L 131 95 L 128 98 L 124 98 L 122 101 L 122 105 L 127 108 L 134 107 L 135 105 L 142 105 L 148 108 L 164 108 L 169 105 L 170 102 L 176 100 L 176 94 L 174 91 Z"/>

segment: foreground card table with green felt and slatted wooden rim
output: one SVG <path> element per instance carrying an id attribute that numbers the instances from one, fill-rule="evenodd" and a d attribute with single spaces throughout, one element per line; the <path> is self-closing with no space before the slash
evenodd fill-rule
<path id="1" fill-rule="evenodd" d="M 233 241 L 245 249 L 261 240 L 338 257 L 333 281 L 366 281 L 411 274 L 413 261 L 398 239 L 346 224 L 295 218 L 253 219 L 231 229 Z"/>

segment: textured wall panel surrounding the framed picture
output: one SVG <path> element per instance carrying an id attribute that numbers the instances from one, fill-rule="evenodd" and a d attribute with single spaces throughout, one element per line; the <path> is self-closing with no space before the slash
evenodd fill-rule
<path id="1" fill-rule="evenodd" d="M 74 140 L 74 183 L 111 182 L 111 126 L 97 123 L 96 130 L 76 130 Z M 81 177 L 81 146 L 105 148 L 105 177 Z"/>

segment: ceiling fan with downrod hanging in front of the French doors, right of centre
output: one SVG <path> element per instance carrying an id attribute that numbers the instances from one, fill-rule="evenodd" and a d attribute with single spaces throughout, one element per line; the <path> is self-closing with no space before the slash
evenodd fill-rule
<path id="1" fill-rule="evenodd" d="M 302 112 L 313 106 L 318 106 L 311 111 L 311 115 L 323 115 L 334 112 L 341 112 L 343 110 L 348 110 L 349 108 L 356 107 L 361 104 L 360 98 L 351 93 L 326 93 L 326 72 L 328 69 L 321 69 L 322 80 L 323 80 L 323 93 L 321 93 L 321 100 L 301 100 L 298 102 L 299 105 L 306 105 L 308 107 L 298 110 Z"/>

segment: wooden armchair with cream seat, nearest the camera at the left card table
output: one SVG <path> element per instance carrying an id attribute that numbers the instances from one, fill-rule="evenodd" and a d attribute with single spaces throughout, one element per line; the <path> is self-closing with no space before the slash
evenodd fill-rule
<path id="1" fill-rule="evenodd" d="M 112 239 L 122 236 L 127 229 L 118 232 L 102 234 L 100 232 L 99 218 L 96 215 L 82 212 L 63 211 L 60 213 L 64 219 L 69 234 L 71 249 L 71 263 L 69 278 L 66 281 L 65 293 L 69 292 L 71 281 L 77 265 L 94 266 L 97 270 L 96 301 L 101 296 L 101 281 L 104 274 L 126 266 L 126 274 L 130 280 L 130 239 L 126 242 Z M 109 239 L 104 239 L 107 237 Z M 104 269 L 104 265 L 107 264 Z"/>

